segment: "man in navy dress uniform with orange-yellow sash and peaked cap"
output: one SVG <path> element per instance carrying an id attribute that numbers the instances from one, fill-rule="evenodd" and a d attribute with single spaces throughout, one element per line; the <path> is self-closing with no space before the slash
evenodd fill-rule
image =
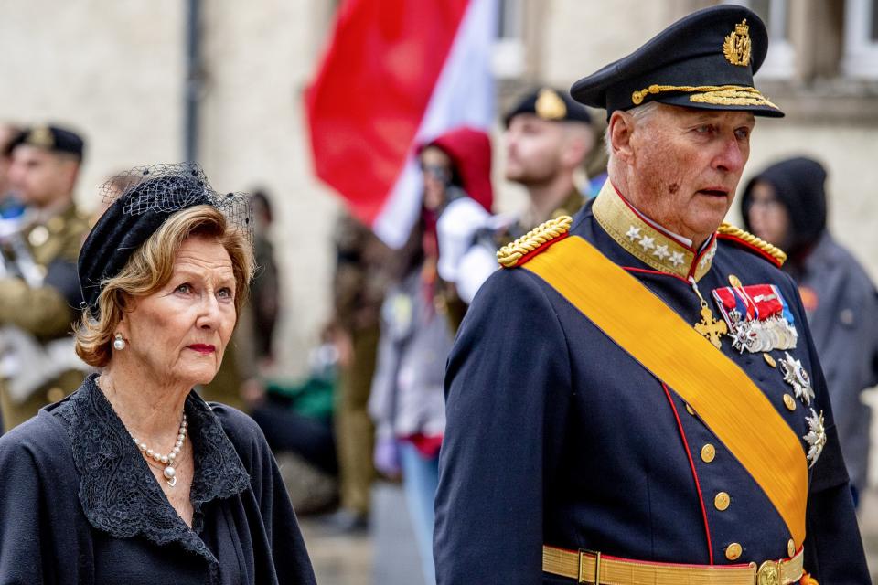
<path id="1" fill-rule="evenodd" d="M 784 254 L 721 225 L 766 28 L 681 19 L 573 85 L 609 180 L 500 250 L 449 357 L 441 585 L 869 582 Z"/>

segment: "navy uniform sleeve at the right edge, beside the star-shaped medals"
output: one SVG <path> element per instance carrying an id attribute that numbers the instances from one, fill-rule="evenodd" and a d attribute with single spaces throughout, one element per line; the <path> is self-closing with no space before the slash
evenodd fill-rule
<path id="1" fill-rule="evenodd" d="M 790 286 L 793 286 L 790 281 Z M 792 290 L 796 290 L 793 288 Z M 823 412 L 826 444 L 811 470 L 806 511 L 805 570 L 820 583 L 865 585 L 869 569 L 853 508 L 851 484 L 841 455 L 838 433 L 832 417 L 826 378 L 811 338 L 805 311 L 798 294 L 794 305 L 801 343 L 808 344 L 808 361 L 814 384 L 814 410 Z"/>

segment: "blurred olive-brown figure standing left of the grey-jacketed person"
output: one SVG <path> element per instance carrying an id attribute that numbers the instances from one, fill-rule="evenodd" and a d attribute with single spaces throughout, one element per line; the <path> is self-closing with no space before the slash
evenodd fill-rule
<path id="1" fill-rule="evenodd" d="M 378 355 L 380 308 L 387 289 L 390 250 L 347 211 L 337 219 L 334 242 L 334 317 L 328 325 L 338 351 L 336 433 L 340 506 L 328 524 L 342 532 L 369 527 L 375 468 L 375 429 L 367 405 Z"/>

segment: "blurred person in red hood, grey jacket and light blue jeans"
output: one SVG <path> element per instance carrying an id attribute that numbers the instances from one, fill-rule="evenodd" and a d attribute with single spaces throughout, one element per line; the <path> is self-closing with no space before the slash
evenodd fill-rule
<path id="1" fill-rule="evenodd" d="M 379 471 L 402 471 L 406 502 L 421 551 L 424 581 L 435 583 L 434 497 L 445 428 L 445 358 L 454 340 L 445 318 L 448 293 L 437 274 L 442 250 L 436 219 L 444 207 L 491 207 L 491 144 L 487 133 L 459 128 L 425 145 L 421 218 L 397 252 L 394 282 L 381 309 L 378 367 L 369 413 L 377 426 Z"/>

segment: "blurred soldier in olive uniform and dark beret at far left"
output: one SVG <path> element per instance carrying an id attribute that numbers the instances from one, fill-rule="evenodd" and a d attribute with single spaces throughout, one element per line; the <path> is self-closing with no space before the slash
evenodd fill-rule
<path id="1" fill-rule="evenodd" d="M 0 402 L 6 430 L 64 398 L 82 381 L 71 323 L 80 306 L 76 261 L 88 220 L 73 203 L 83 141 L 35 126 L 8 147 L 9 179 L 27 206 L 23 229 L 3 239 L 0 278 Z"/>

